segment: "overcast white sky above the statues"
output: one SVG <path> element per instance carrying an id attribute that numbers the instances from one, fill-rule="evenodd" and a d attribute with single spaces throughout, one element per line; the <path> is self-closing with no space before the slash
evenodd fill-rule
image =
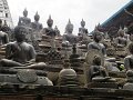
<path id="1" fill-rule="evenodd" d="M 78 33 L 82 18 L 86 22 L 85 28 L 92 31 L 98 23 L 104 22 L 119 9 L 131 0 L 8 0 L 14 26 L 19 17 L 22 17 L 24 8 L 29 11 L 28 17 L 33 21 L 38 11 L 40 22 L 47 27 L 49 14 L 53 19 L 53 28 L 58 26 L 61 34 L 69 21 L 74 24 L 73 33 Z"/>

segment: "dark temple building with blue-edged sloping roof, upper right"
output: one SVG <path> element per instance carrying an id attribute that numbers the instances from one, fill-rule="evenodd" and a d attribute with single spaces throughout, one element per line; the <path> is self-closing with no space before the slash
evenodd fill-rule
<path id="1" fill-rule="evenodd" d="M 132 34 L 133 32 L 133 0 L 117 10 L 112 17 L 105 20 L 102 24 L 100 30 L 109 31 L 115 36 L 115 32 L 120 29 L 127 28 L 127 33 Z"/>

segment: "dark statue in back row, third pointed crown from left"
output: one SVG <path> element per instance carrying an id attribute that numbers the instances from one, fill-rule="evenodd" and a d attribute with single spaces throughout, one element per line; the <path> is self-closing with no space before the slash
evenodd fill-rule
<path id="1" fill-rule="evenodd" d="M 50 36 L 50 37 L 55 37 L 57 34 L 55 34 L 54 29 L 52 28 L 53 20 L 51 19 L 51 16 L 49 16 L 47 24 L 48 24 L 48 28 L 43 29 L 43 33 L 47 34 L 47 36 Z"/>

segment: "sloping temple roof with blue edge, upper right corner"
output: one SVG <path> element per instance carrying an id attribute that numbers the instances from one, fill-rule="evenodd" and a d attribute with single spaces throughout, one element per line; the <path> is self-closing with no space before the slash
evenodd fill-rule
<path id="1" fill-rule="evenodd" d="M 131 18 L 130 14 L 125 12 L 125 9 L 133 13 L 133 0 L 131 0 L 129 3 L 126 3 L 123 8 L 121 8 L 116 13 L 114 13 L 112 17 L 110 17 L 105 22 L 103 22 L 101 26 L 105 28 L 110 27 L 124 27 L 127 23 L 127 20 L 133 21 L 133 17 Z"/>

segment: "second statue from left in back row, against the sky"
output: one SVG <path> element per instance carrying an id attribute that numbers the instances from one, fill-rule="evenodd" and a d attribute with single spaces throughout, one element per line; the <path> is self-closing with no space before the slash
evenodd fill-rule
<path id="1" fill-rule="evenodd" d="M 39 20 L 40 20 L 40 16 L 37 12 L 35 16 L 34 16 L 34 22 L 31 23 L 31 28 L 34 31 L 40 31 L 43 28 L 42 23 L 40 23 Z"/>

